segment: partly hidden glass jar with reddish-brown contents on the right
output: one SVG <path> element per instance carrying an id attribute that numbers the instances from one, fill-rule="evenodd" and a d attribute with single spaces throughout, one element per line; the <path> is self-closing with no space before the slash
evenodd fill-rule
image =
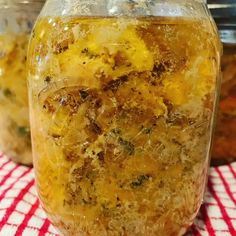
<path id="1" fill-rule="evenodd" d="M 223 0 L 217 5 L 212 1 L 209 3 L 224 48 L 220 109 L 212 157 L 212 164 L 220 165 L 236 161 L 236 7 Z"/>

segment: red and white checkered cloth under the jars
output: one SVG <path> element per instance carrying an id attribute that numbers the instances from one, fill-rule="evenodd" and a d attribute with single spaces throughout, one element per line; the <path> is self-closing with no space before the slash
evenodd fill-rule
<path id="1" fill-rule="evenodd" d="M 59 236 L 39 205 L 33 170 L 0 154 L 0 236 Z M 236 163 L 211 168 L 188 236 L 236 236 Z"/>

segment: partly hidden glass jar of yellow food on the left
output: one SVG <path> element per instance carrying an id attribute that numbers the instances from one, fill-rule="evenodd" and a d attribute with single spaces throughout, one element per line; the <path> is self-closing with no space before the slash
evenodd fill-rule
<path id="1" fill-rule="evenodd" d="M 26 55 L 30 31 L 44 1 L 0 0 L 0 150 L 32 163 Z"/>

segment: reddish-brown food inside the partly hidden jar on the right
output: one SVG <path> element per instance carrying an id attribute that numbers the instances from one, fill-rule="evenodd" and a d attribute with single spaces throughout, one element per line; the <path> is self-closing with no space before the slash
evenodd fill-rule
<path id="1" fill-rule="evenodd" d="M 234 160 L 236 160 L 236 54 L 234 47 L 225 46 L 212 163 L 218 165 Z"/>

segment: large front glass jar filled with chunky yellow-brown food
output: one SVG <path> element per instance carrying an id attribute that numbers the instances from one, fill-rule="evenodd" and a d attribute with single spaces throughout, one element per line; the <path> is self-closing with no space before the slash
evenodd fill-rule
<path id="1" fill-rule="evenodd" d="M 29 47 L 37 189 L 64 235 L 182 235 L 202 203 L 220 43 L 201 1 L 46 2 Z"/>

